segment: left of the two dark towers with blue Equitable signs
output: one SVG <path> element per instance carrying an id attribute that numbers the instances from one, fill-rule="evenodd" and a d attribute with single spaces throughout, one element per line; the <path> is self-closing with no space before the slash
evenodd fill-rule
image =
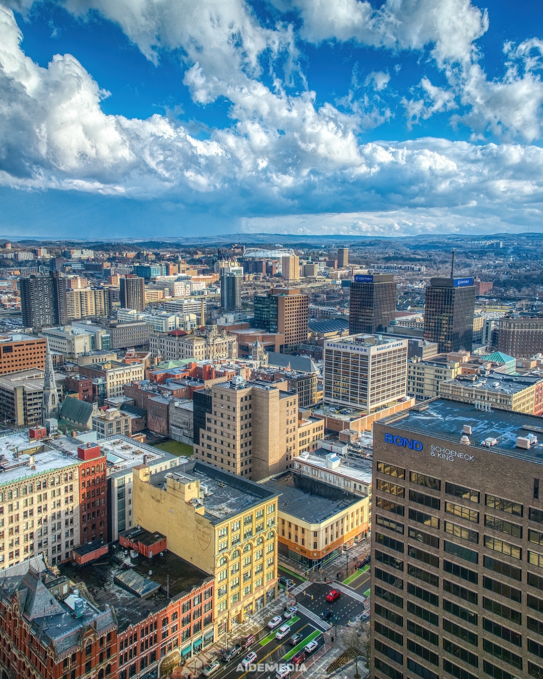
<path id="1" fill-rule="evenodd" d="M 356 274 L 351 282 L 349 333 L 382 333 L 396 314 L 396 282 L 392 274 Z"/>

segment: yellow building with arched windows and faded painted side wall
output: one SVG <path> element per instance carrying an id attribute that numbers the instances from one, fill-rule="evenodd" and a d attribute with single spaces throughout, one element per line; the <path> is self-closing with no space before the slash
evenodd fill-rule
<path id="1" fill-rule="evenodd" d="M 134 521 L 215 578 L 218 634 L 277 595 L 278 493 L 202 462 L 134 468 Z"/>

